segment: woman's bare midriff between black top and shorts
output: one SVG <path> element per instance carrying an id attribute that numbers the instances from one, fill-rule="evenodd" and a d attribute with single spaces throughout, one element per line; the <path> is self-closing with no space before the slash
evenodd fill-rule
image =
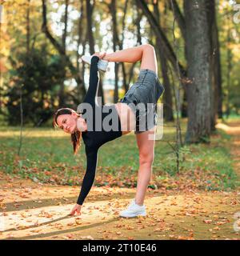
<path id="1" fill-rule="evenodd" d="M 129 134 L 134 130 L 136 125 L 136 118 L 134 111 L 126 103 L 118 102 L 114 104 L 118 111 L 118 116 L 121 122 L 122 135 Z"/>

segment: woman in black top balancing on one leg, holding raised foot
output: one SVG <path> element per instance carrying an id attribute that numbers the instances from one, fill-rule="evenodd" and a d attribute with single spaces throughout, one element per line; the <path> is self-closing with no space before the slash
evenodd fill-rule
<path id="1" fill-rule="evenodd" d="M 95 102 L 95 96 L 98 92 L 98 69 L 101 70 L 98 65 L 99 62 L 138 61 L 141 61 L 138 81 L 130 87 L 121 101 L 112 106 L 98 106 Z M 93 185 L 99 147 L 134 130 L 139 150 L 137 191 L 134 200 L 130 202 L 126 210 L 120 213 L 120 216 L 146 216 L 143 202 L 154 162 L 154 140 L 150 139 L 150 135 L 151 137 L 155 135 L 156 103 L 163 90 L 164 87 L 158 79 L 154 47 L 149 44 L 119 50 L 112 54 L 96 53 L 90 58 L 90 84 L 78 110 L 78 113 L 81 112 L 81 114 L 68 108 L 60 109 L 54 114 L 54 126 L 58 126 L 66 133 L 71 134 L 74 153 L 78 151 L 81 137 L 85 144 L 86 174 L 82 181 L 82 189 L 77 204 L 70 212 L 71 215 L 81 214 L 82 204 Z M 86 108 L 83 106 L 84 104 Z M 139 108 L 138 105 L 140 105 Z M 150 108 L 144 108 L 146 105 L 150 105 Z M 104 111 L 102 111 L 103 108 Z M 86 111 L 83 114 L 84 110 Z M 99 114 L 100 112 L 101 114 Z M 106 129 L 108 128 L 106 123 L 109 122 L 104 121 L 109 115 L 111 115 L 112 125 L 114 123 L 114 128 L 117 127 L 117 129 Z M 154 117 L 154 122 L 146 121 L 148 120 L 146 116 L 149 115 Z M 142 129 L 142 126 L 145 126 L 146 129 Z"/>

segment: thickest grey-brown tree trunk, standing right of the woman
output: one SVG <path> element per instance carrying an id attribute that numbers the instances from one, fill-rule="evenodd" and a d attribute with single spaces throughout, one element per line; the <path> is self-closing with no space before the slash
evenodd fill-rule
<path id="1" fill-rule="evenodd" d="M 210 40 L 205 0 L 184 1 L 188 78 L 186 142 L 210 137 Z"/>

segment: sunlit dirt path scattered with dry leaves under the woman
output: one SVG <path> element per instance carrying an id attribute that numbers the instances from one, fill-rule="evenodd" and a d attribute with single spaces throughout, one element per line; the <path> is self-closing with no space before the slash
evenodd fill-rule
<path id="1" fill-rule="evenodd" d="M 231 153 L 240 178 L 240 124 L 219 126 L 234 135 Z M 239 239 L 233 192 L 149 190 L 146 218 L 119 218 L 134 189 L 93 187 L 80 217 L 68 217 L 74 186 L 50 186 L 0 173 L 0 239 Z M 235 222 L 235 230 L 234 230 Z"/>

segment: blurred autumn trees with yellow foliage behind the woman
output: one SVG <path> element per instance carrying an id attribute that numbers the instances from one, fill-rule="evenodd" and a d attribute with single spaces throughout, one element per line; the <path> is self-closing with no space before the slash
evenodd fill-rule
<path id="1" fill-rule="evenodd" d="M 0 27 L 2 120 L 44 125 L 54 110 L 77 109 L 89 67 L 82 54 L 150 43 L 165 86 L 164 118 L 187 118 L 186 142 L 206 142 L 218 118 L 240 114 L 239 22 L 235 1 L 8 0 Z M 240 15 L 238 15 L 240 16 Z M 102 104 L 118 102 L 140 63 L 111 63 Z M 176 97 L 177 96 L 177 97 Z M 179 102 L 176 104 L 176 100 Z M 21 103 L 22 102 L 22 103 Z"/>

